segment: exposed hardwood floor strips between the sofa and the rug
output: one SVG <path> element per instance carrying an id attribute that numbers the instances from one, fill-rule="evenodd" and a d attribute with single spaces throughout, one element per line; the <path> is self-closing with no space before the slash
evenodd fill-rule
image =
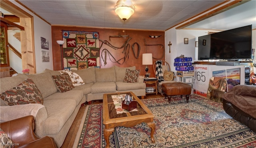
<path id="1" fill-rule="evenodd" d="M 156 94 L 147 94 L 144 99 L 152 99 L 152 98 L 159 98 L 159 97 L 164 97 L 163 95 L 161 95 L 160 93 Z M 141 97 L 139 97 L 141 99 Z M 96 101 L 92 101 L 91 104 L 100 104 L 102 103 L 102 100 L 96 100 Z M 86 105 L 84 105 L 83 107 L 80 107 L 78 114 L 76 115 L 76 118 L 72 124 L 72 126 L 70 127 L 68 134 L 66 136 L 66 139 L 64 140 L 64 143 L 62 144 L 61 148 L 72 148 L 74 141 L 76 139 L 76 134 L 78 132 L 79 129 L 79 125 L 81 123 L 82 120 L 82 116 L 84 115 L 84 111 L 86 109 Z"/>

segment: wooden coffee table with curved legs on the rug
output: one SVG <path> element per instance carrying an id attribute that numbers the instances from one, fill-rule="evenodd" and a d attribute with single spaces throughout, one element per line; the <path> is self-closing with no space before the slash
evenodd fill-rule
<path id="1" fill-rule="evenodd" d="M 137 101 L 137 109 L 138 111 L 132 111 L 128 113 L 116 114 L 116 109 L 114 107 L 114 103 L 111 95 L 120 95 L 127 94 L 133 96 L 133 98 Z M 132 92 L 121 92 L 121 93 L 106 93 L 103 95 L 103 124 L 104 128 L 104 138 L 107 142 L 106 148 L 110 147 L 109 144 L 109 136 L 114 132 L 114 127 L 122 126 L 122 127 L 133 127 L 139 123 L 145 122 L 151 129 L 150 138 L 152 142 L 155 142 L 154 132 L 156 125 L 154 123 L 154 115 L 151 111 L 140 101 L 140 99 Z"/>

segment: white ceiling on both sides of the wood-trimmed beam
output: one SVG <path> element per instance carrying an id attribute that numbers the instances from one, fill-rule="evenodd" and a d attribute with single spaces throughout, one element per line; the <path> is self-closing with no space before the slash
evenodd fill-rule
<path id="1" fill-rule="evenodd" d="M 114 11 L 117 0 L 19 0 L 51 25 L 143 29 L 164 31 L 224 0 L 132 0 L 134 14 L 125 22 Z M 242 8 L 239 8 L 243 6 Z M 256 27 L 256 0 L 222 12 L 187 28 L 231 29 L 234 22 L 253 18 Z M 239 8 L 239 9 L 237 9 Z M 1 10 L 2 11 L 2 10 Z M 249 14 L 249 16 L 248 16 Z M 242 17 L 242 18 L 240 18 Z M 246 24 L 248 25 L 248 23 Z M 238 27 L 244 25 L 238 24 Z"/>

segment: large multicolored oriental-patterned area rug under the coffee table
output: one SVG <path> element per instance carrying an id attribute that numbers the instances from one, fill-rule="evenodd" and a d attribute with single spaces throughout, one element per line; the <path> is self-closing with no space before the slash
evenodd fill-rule
<path id="1" fill-rule="evenodd" d="M 111 148 L 254 148 L 256 133 L 227 115 L 222 103 L 190 95 L 168 99 L 143 99 L 155 115 L 156 130 L 150 140 L 146 123 L 116 127 L 110 135 Z M 104 148 L 102 104 L 88 105 L 74 148 Z"/>

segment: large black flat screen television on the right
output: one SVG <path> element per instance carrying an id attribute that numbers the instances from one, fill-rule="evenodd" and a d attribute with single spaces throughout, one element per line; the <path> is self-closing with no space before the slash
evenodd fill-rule
<path id="1" fill-rule="evenodd" d="M 198 60 L 252 58 L 252 25 L 198 37 Z"/>

